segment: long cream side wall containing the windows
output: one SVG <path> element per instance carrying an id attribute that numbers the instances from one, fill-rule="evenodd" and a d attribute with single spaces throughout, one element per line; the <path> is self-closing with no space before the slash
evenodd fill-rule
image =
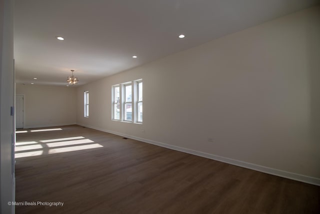
<path id="1" fill-rule="evenodd" d="M 107 77 L 77 123 L 320 185 L 319 38 L 315 7 Z M 111 86 L 140 78 L 143 124 L 111 121 Z"/>

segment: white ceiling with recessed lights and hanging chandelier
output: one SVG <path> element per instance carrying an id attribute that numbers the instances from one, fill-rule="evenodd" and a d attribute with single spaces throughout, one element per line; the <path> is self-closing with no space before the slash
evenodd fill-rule
<path id="1" fill-rule="evenodd" d="M 15 0 L 16 82 L 65 86 L 73 69 L 83 85 L 318 2 Z"/>

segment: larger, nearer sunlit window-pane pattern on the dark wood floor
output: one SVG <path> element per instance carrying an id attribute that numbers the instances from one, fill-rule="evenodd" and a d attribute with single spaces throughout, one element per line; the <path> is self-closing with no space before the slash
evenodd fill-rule
<path id="1" fill-rule="evenodd" d="M 15 143 L 15 158 L 103 147 L 82 136 Z"/>

